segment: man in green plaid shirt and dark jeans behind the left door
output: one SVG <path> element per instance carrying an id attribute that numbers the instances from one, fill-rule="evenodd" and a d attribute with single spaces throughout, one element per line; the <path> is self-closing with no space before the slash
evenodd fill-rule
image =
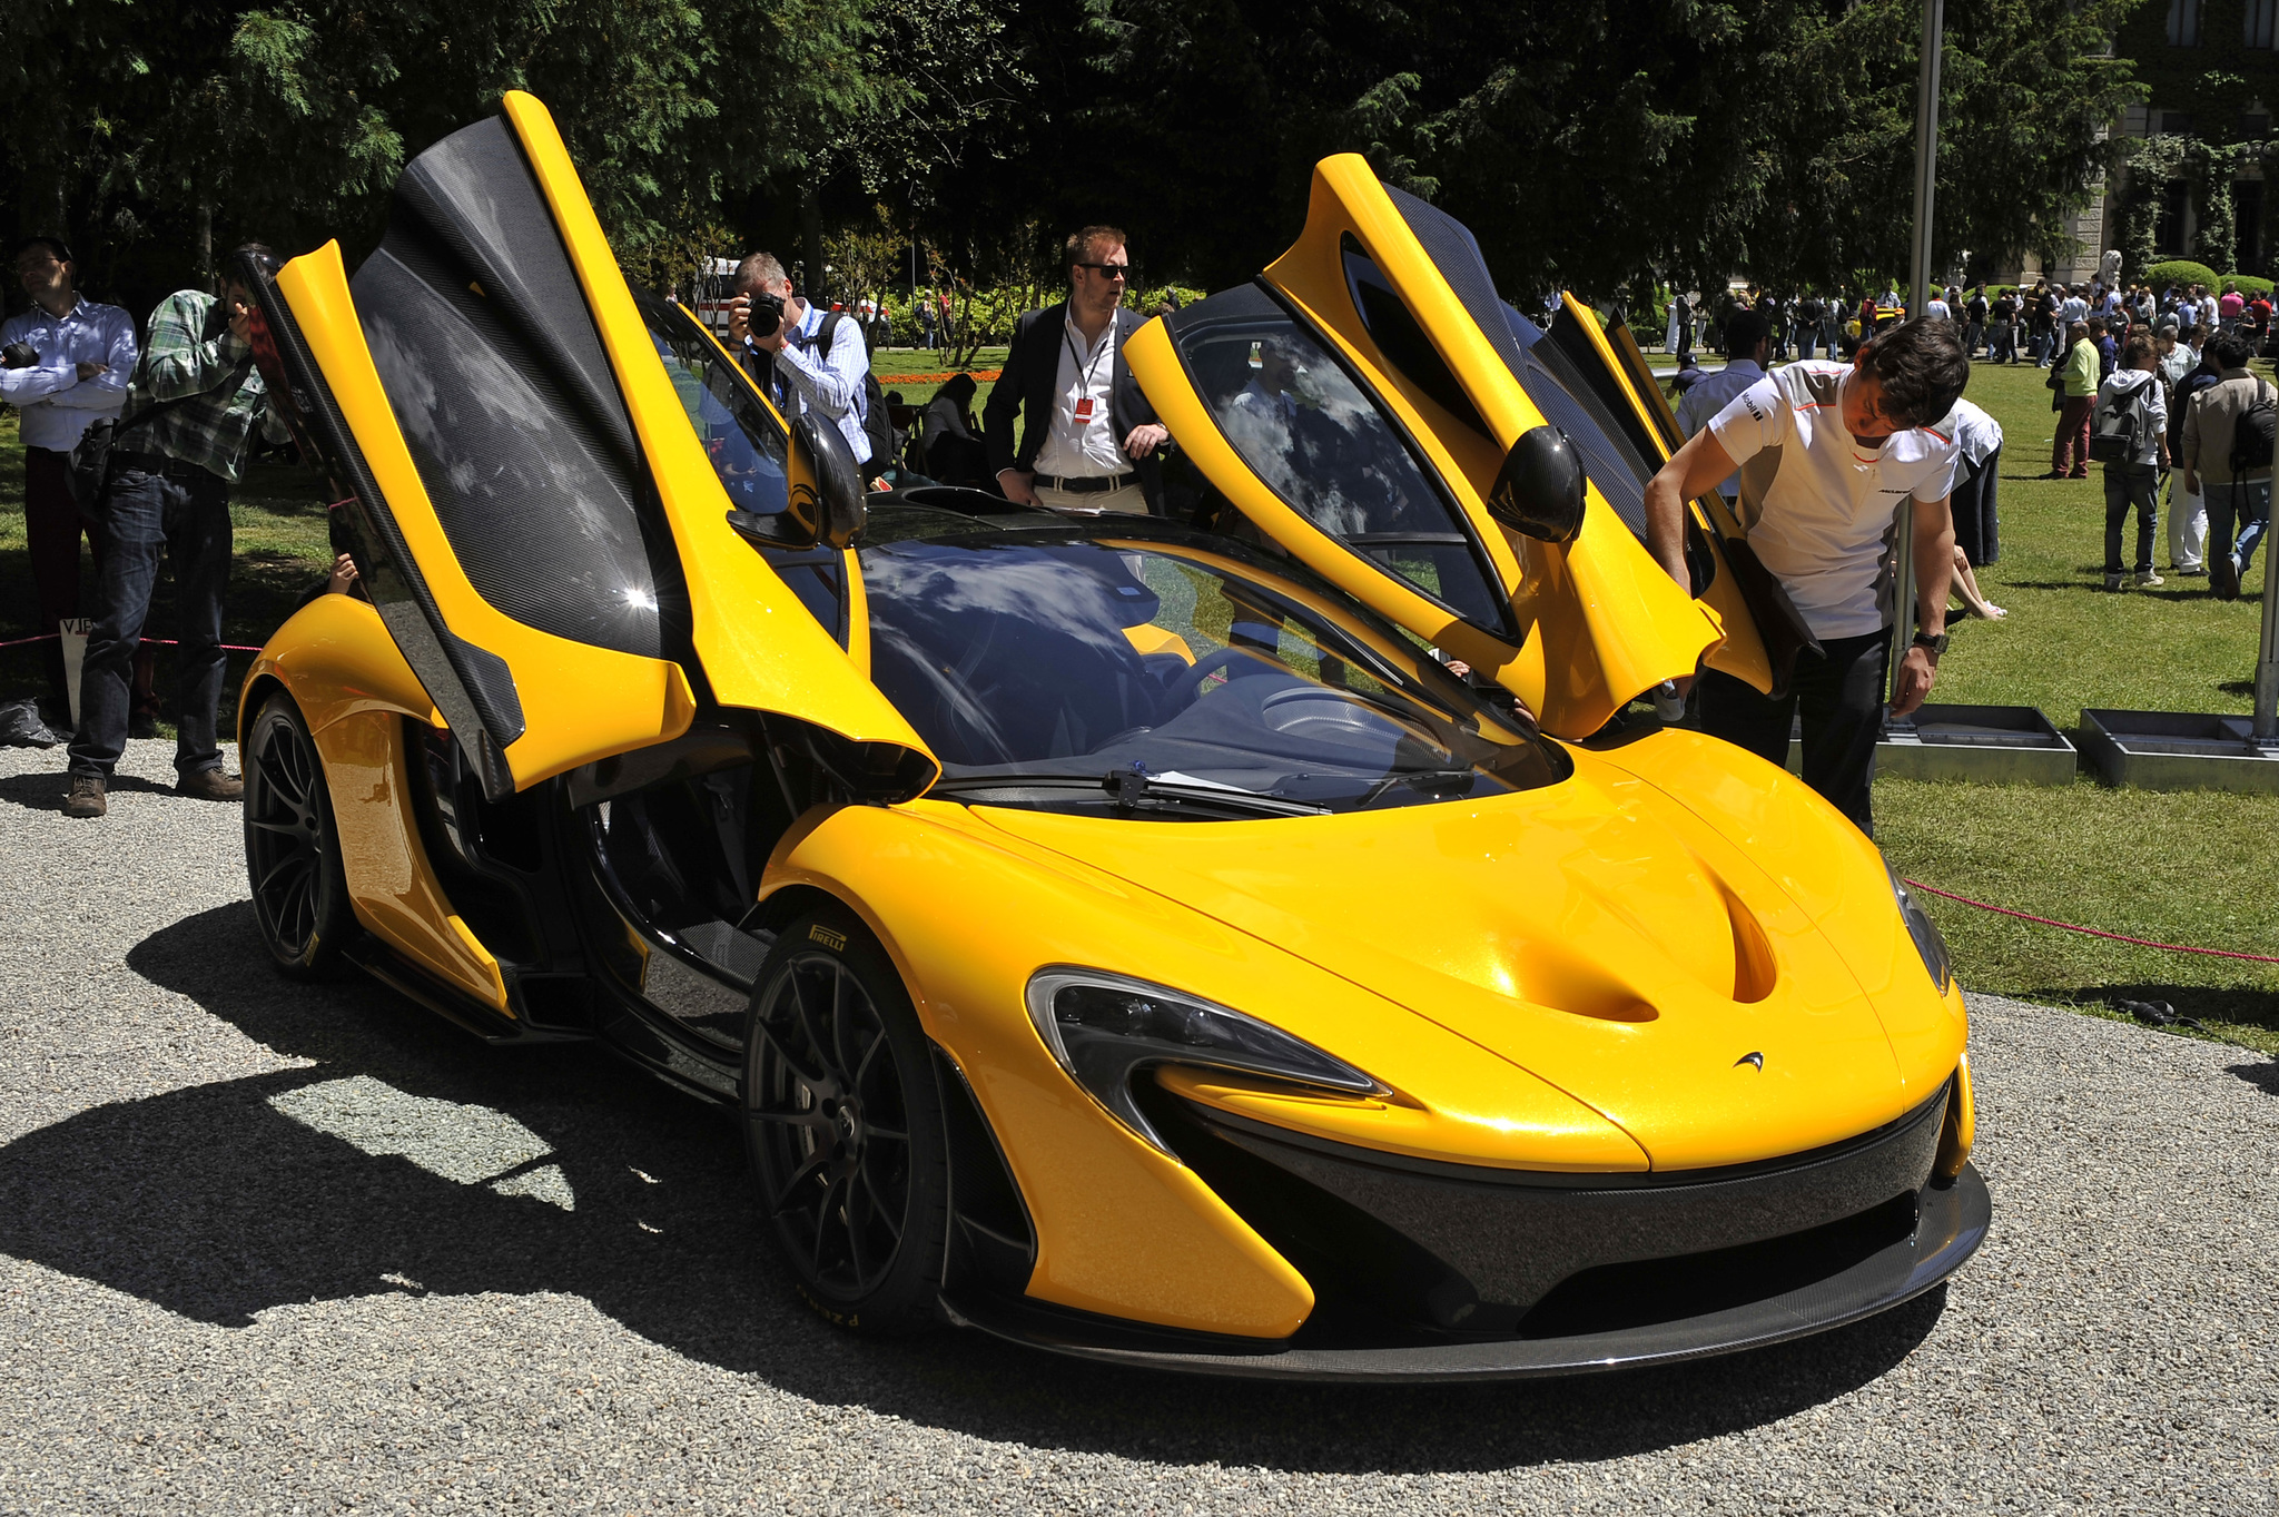
<path id="1" fill-rule="evenodd" d="M 276 255 L 248 241 L 232 255 L 276 273 Z M 109 809 L 112 765 L 128 738 L 128 665 L 141 647 L 150 590 L 164 558 L 173 565 L 182 638 L 175 647 L 175 790 L 198 800 L 242 800 L 246 781 L 221 770 L 214 713 L 221 704 L 221 594 L 230 583 L 230 487 L 246 440 L 260 426 L 287 442 L 269 412 L 253 364 L 253 294 L 230 280 L 217 301 L 178 289 L 150 312 L 150 342 L 134 367 L 125 415 L 112 435 L 100 492 L 103 576 L 96 629 L 80 670 L 80 731 L 71 740 L 71 795 L 64 815 Z"/>

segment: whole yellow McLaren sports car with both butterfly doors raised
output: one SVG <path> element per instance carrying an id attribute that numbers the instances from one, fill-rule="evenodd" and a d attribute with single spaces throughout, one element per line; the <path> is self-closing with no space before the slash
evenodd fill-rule
<path id="1" fill-rule="evenodd" d="M 235 273 L 362 574 L 244 688 L 271 952 L 738 1109 L 830 1319 L 1529 1376 L 1978 1246 L 1937 932 L 1634 704 L 1766 663 L 1730 576 L 1639 544 L 1652 380 L 1361 159 L 1130 337 L 1153 517 L 866 499 L 627 285 L 529 96 L 406 169 L 353 278 Z"/>

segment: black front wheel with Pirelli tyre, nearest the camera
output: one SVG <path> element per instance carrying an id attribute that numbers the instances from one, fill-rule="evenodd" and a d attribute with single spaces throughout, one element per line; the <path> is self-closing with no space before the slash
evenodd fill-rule
<path id="1" fill-rule="evenodd" d="M 777 1250 L 830 1321 L 937 1321 L 948 1153 L 930 1043 L 848 911 L 793 920 L 752 991 L 745 1146 Z"/>

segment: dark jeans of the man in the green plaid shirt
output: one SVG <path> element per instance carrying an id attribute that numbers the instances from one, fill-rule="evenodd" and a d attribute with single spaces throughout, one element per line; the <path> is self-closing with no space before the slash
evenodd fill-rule
<path id="1" fill-rule="evenodd" d="M 128 743 L 128 665 L 141 647 L 160 556 L 173 560 L 182 638 L 175 649 L 173 768 L 221 768 L 214 706 L 221 702 L 221 592 L 230 583 L 230 487 L 205 469 L 119 469 L 103 506 L 103 576 L 96 629 L 80 670 L 80 731 L 73 774 L 109 774 Z"/>

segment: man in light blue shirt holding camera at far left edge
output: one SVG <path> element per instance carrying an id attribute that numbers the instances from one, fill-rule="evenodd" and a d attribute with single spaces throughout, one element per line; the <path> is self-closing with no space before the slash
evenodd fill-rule
<path id="1" fill-rule="evenodd" d="M 98 305 L 77 292 L 80 266 L 62 237 L 25 237 L 16 244 L 16 278 L 32 308 L 0 323 L 0 401 L 23 415 L 23 535 L 32 558 L 32 599 L 43 638 L 55 624 L 80 615 L 80 510 L 71 499 L 71 449 L 91 424 L 116 417 L 134 374 L 134 317 L 116 305 Z M 96 574 L 103 572 L 103 535 L 89 531 Z M 64 645 L 43 645 L 48 665 L 50 722 L 71 718 L 71 686 L 64 679 Z M 134 661 L 137 738 L 157 736 L 157 702 L 150 695 L 150 654 Z"/>

